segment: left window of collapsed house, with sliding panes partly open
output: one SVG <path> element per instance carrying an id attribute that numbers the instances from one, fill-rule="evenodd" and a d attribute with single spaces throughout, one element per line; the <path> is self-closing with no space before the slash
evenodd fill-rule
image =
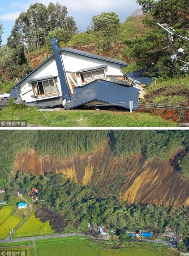
<path id="1" fill-rule="evenodd" d="M 57 93 L 54 79 L 32 82 L 31 85 L 35 96 Z"/>

